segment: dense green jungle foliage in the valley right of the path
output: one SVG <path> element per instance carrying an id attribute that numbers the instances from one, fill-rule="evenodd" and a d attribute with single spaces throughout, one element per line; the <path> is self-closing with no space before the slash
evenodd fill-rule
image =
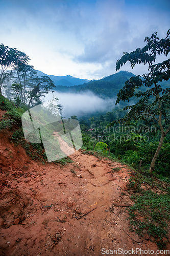
<path id="1" fill-rule="evenodd" d="M 95 145 L 102 141 L 110 148 L 110 153 L 120 161 L 138 168 L 142 160 L 141 171 L 148 172 L 150 162 L 159 144 L 160 131 L 154 125 L 145 124 L 143 121 L 132 121 L 128 126 L 114 124 L 109 126 L 111 120 L 123 118 L 126 111 L 115 109 L 103 115 L 90 117 L 90 120 L 80 119 L 83 144 L 88 150 L 96 149 Z M 155 168 L 155 174 L 162 177 L 170 177 L 170 134 L 163 142 Z"/>

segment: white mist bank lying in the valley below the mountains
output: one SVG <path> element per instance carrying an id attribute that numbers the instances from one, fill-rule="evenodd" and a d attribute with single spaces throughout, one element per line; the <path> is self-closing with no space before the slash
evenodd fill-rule
<path id="1" fill-rule="evenodd" d="M 63 117 L 75 115 L 80 117 L 84 114 L 99 112 L 109 112 L 115 107 L 115 99 L 102 99 L 90 91 L 83 93 L 61 93 L 53 92 L 45 95 L 44 101 L 51 101 L 58 98 L 58 104 L 63 106 Z"/>

